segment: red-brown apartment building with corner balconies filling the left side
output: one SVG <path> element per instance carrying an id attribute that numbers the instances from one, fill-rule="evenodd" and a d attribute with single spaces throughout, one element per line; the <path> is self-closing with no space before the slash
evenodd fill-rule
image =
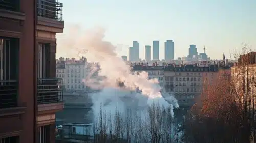
<path id="1" fill-rule="evenodd" d="M 62 4 L 0 2 L 0 142 L 55 142 L 55 112 L 63 108 L 55 77 Z"/>

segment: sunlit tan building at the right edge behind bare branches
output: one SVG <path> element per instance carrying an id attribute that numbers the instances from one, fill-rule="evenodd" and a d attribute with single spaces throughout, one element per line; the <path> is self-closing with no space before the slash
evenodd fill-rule
<path id="1" fill-rule="evenodd" d="M 240 55 L 238 63 L 231 67 L 231 80 L 242 103 L 247 102 L 256 121 L 256 52 Z M 246 97 L 246 98 L 244 98 Z"/>

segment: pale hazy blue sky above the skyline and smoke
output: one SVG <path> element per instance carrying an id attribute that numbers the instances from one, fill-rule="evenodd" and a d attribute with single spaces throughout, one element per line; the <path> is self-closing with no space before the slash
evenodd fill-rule
<path id="1" fill-rule="evenodd" d="M 106 28 L 105 40 L 120 44 L 119 55 L 127 55 L 132 41 L 144 45 L 160 40 L 160 59 L 164 41 L 174 40 L 175 59 L 188 54 L 190 44 L 211 59 L 229 58 L 230 50 L 247 42 L 256 47 L 255 0 L 59 0 L 63 3 L 64 33 L 73 24 L 82 28 Z M 57 40 L 57 43 L 61 39 Z M 62 55 L 57 46 L 57 56 Z"/>

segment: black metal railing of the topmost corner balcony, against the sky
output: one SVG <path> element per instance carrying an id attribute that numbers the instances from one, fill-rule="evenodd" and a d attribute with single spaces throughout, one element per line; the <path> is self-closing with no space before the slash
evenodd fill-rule
<path id="1" fill-rule="evenodd" d="M 38 0 L 37 16 L 63 21 L 62 7 L 62 3 L 53 2 L 50 0 Z"/>

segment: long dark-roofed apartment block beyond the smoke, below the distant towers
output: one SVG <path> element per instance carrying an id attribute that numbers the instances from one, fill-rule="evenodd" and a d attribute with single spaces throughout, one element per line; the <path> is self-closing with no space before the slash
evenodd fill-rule
<path id="1" fill-rule="evenodd" d="M 148 78 L 157 78 L 162 91 L 175 96 L 181 107 L 190 107 L 200 97 L 204 83 L 213 83 L 223 68 L 220 63 L 213 65 L 176 65 L 148 66 L 147 64 L 132 65 L 134 71 L 146 71 Z M 230 68 L 227 67 L 230 71 Z M 228 74 L 230 72 L 221 72 Z"/>

